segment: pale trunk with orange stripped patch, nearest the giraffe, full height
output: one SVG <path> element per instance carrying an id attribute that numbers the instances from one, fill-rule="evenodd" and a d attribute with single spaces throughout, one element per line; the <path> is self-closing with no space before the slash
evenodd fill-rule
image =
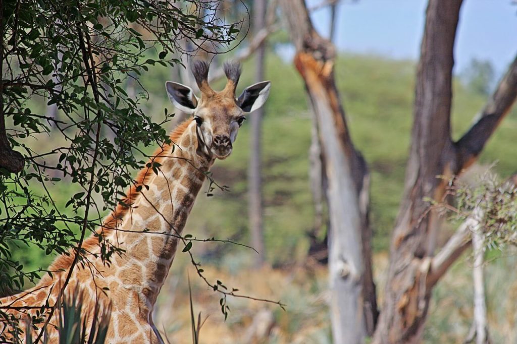
<path id="1" fill-rule="evenodd" d="M 332 334 L 336 343 L 359 343 L 377 317 L 371 272 L 369 173 L 349 136 L 333 79 L 333 45 L 318 35 L 302 0 L 282 1 L 317 121 L 328 178 L 329 279 Z"/>

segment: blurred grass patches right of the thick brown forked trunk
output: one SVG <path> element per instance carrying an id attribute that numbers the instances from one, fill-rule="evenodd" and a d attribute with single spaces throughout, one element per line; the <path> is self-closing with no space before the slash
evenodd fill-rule
<path id="1" fill-rule="evenodd" d="M 485 264 L 489 334 L 494 343 L 517 340 L 517 256 L 493 252 Z M 455 264 L 433 291 L 426 342 L 463 343 L 473 321 L 472 257 Z"/>

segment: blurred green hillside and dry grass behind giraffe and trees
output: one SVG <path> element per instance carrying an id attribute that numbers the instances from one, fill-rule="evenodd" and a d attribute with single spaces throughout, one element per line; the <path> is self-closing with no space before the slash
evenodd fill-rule
<path id="1" fill-rule="evenodd" d="M 206 285 L 200 280 L 191 277 L 194 309 L 209 315 L 201 331 L 201 342 L 243 342 L 246 336 L 253 336 L 253 323 L 260 316 L 265 317 L 265 323 L 273 329 L 267 342 L 326 343 L 331 340 L 325 303 L 326 267 L 308 257 L 307 233 L 314 224 L 308 178 L 311 114 L 299 75 L 291 61 L 283 59 L 273 46 L 270 44 L 266 58 L 266 79 L 272 82 L 272 89 L 263 123 L 264 224 L 270 267 L 258 273 L 251 272 L 249 268 L 255 253 L 231 244 L 198 243 L 194 244 L 194 252 L 205 265 L 207 276 L 221 279 L 229 287 L 252 296 L 282 300 L 287 305 L 287 311 L 262 303 L 230 299 L 230 316 L 224 322 L 218 296 L 206 290 Z M 241 87 L 253 83 L 253 59 L 244 63 L 243 70 Z M 487 78 L 480 86 L 480 78 L 474 76 L 482 73 L 479 64 L 473 62 L 472 70 L 465 70 L 454 81 L 453 138 L 469 127 L 472 118 L 486 101 L 484 87 L 490 87 L 494 76 Z M 336 63 L 336 81 L 353 139 L 372 172 L 374 267 L 380 291 L 383 290 L 388 263 L 389 235 L 403 190 L 412 125 L 414 76 L 415 62 L 410 60 L 341 54 Z M 166 80 L 173 79 L 171 68 L 158 65 L 140 78 L 149 91 L 145 111 L 157 122 L 163 119 L 164 108 L 174 112 L 163 86 Z M 222 84 L 214 87 L 222 87 Z M 44 106 L 39 99 L 32 102 L 35 107 Z M 172 123 L 166 129 L 172 130 Z M 517 111 L 513 110 L 486 146 L 480 165 L 495 163 L 493 171 L 503 178 L 514 173 L 514 147 L 510 143 L 515 138 L 515 130 Z M 232 156 L 216 162 L 212 168 L 215 180 L 228 185 L 230 191 L 216 190 L 213 197 L 207 197 L 203 193 L 207 191 L 208 186 L 205 186 L 195 202 L 186 233 L 199 238 L 231 238 L 245 244 L 249 242 L 246 182 L 248 132 L 249 127 L 245 123 Z M 50 149 L 59 143 L 50 135 L 42 135 L 34 144 Z M 480 166 L 479 170 L 482 169 Z M 65 203 L 75 190 L 70 190 L 63 182 L 50 188 L 50 192 L 56 195 L 58 206 L 65 209 Z M 42 190 L 34 192 L 41 194 Z M 450 230 L 453 229 L 450 227 Z M 33 246 L 13 247 L 12 253 L 27 270 L 46 268 L 54 258 Z M 184 256 L 178 254 L 156 310 L 156 324 L 160 329 L 163 326 L 174 342 L 189 342 L 187 273 L 190 263 Z M 517 279 L 508 276 L 505 271 L 511 269 L 516 261 L 513 256 L 500 257 L 498 253 L 493 253 L 493 256 L 498 258 L 490 263 L 490 269 L 486 272 L 491 334 L 494 339 L 509 338 L 510 335 L 515 336 L 514 305 L 517 303 L 512 300 L 517 298 Z M 469 264 L 469 257 L 458 262 L 458 266 L 435 289 L 426 340 L 454 342 L 463 340 L 468 332 L 472 295 L 469 291 L 470 270 L 464 267 Z M 193 269 L 190 270 L 194 275 Z M 504 293 L 510 298 L 504 302 L 500 300 L 501 280 L 506 281 Z M 382 297 L 382 292 L 380 295 Z"/>

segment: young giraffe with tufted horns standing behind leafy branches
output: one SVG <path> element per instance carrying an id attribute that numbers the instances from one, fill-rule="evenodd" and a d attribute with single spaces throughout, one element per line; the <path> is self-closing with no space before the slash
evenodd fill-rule
<path id="1" fill-rule="evenodd" d="M 235 62 L 225 62 L 226 86 L 215 91 L 208 84 L 208 67 L 205 62 L 194 61 L 191 68 L 200 98 L 190 87 L 165 83 L 176 109 L 192 114 L 193 118 L 179 124 L 170 136 L 172 144 L 158 148 L 123 202 L 96 230 L 97 236 L 84 241 L 85 257 L 73 269 L 64 291 L 70 295 L 81 288 L 82 316 L 88 324 L 93 321 L 91 310 L 96 301 L 101 306 L 111 306 L 109 343 L 164 342 L 151 315 L 175 256 L 178 236 L 207 171 L 216 159 L 229 157 L 245 115 L 261 107 L 269 95 L 270 82 L 265 81 L 247 87 L 236 98 L 241 68 Z M 156 163 L 161 165 L 155 172 L 152 167 Z M 99 236 L 125 253 L 114 255 L 109 264 L 102 262 Z M 0 306 L 40 307 L 45 301 L 53 305 L 74 253 L 71 250 L 70 255 L 57 257 L 49 270 L 58 272 L 45 275 L 34 288 L 0 299 Z M 16 308 L 7 312 L 21 319 L 27 313 L 34 315 L 35 310 Z M 56 324 L 54 314 L 47 326 L 50 343 L 58 341 Z M 37 334 L 42 326 L 35 326 L 39 326 Z M 4 332 L 7 327 L 4 325 Z"/>

